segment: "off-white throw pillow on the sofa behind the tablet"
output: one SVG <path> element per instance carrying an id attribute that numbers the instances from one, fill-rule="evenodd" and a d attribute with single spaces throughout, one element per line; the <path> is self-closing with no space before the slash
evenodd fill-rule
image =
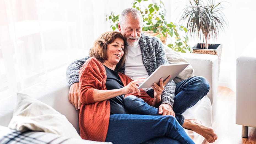
<path id="1" fill-rule="evenodd" d="M 188 61 L 183 58 L 178 52 L 169 48 L 164 44 L 165 55 L 170 64 L 172 63 L 188 63 Z M 176 78 L 173 79 L 174 83 L 179 83 L 180 81 L 186 80 L 188 78 L 194 77 L 195 71 L 191 64 L 189 64 Z"/>

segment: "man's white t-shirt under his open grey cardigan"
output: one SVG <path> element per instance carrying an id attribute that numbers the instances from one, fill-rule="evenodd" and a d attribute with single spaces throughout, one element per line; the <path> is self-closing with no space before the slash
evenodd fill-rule
<path id="1" fill-rule="evenodd" d="M 128 54 L 125 60 L 125 75 L 129 78 L 136 80 L 139 77 L 149 77 L 149 74 L 142 61 L 142 53 L 139 44 L 135 47 L 126 46 L 128 49 Z M 139 83 L 141 84 L 141 83 Z M 148 91 L 150 88 L 145 88 Z"/>

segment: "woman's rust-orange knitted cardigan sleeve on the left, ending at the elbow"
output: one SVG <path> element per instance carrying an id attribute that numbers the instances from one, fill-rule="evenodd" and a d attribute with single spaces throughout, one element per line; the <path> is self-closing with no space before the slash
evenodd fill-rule
<path id="1" fill-rule="evenodd" d="M 94 89 L 103 90 L 106 71 L 96 58 L 89 58 L 79 71 L 79 98 L 82 104 L 95 103 Z M 104 89 L 106 90 L 106 88 Z"/>

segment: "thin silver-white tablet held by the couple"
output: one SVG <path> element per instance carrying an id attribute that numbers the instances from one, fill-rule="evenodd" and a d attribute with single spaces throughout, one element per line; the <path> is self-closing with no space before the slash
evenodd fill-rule
<path id="1" fill-rule="evenodd" d="M 163 64 L 159 66 L 143 83 L 141 83 L 138 89 L 151 87 L 153 83 L 159 85 L 160 78 L 165 80 L 169 75 L 171 75 L 171 78 L 166 83 L 168 84 L 188 65 L 189 63 Z"/>

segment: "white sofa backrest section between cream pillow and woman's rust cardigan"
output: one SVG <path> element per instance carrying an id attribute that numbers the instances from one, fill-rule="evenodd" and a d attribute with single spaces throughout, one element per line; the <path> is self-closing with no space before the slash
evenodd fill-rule
<path id="1" fill-rule="evenodd" d="M 50 72 L 47 80 L 35 84 L 20 93 L 36 98 L 65 115 L 79 133 L 78 111 L 68 101 L 69 84 L 66 79 L 67 67 L 63 66 Z"/>

